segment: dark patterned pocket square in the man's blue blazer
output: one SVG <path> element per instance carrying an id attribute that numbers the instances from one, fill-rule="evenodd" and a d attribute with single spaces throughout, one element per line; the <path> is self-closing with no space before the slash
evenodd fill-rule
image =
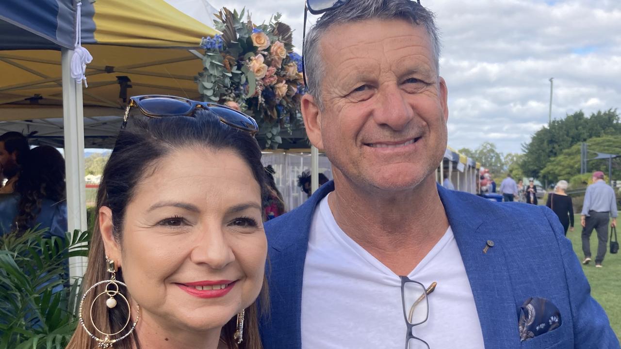
<path id="1" fill-rule="evenodd" d="M 532 339 L 561 326 L 561 313 L 553 302 L 530 297 L 520 307 L 520 340 Z"/>

